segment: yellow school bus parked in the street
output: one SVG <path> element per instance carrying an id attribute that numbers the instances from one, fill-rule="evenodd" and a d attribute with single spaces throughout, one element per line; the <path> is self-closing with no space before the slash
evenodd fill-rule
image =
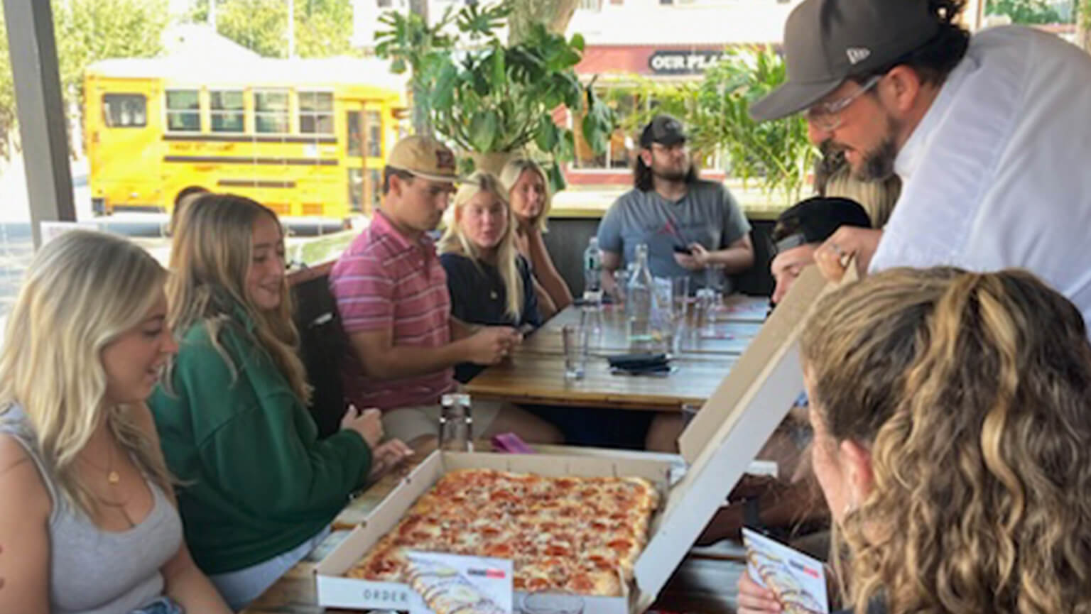
<path id="1" fill-rule="evenodd" d="M 191 186 L 280 216 L 347 219 L 379 202 L 405 131 L 405 83 L 385 62 L 104 60 L 85 77 L 93 208 L 170 212 Z"/>

